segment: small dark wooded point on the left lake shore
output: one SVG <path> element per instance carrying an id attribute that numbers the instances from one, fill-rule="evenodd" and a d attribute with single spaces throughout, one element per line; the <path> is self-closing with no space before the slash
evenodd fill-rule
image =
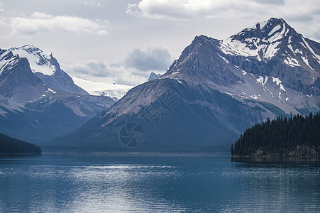
<path id="1" fill-rule="evenodd" d="M 0 133 L 0 153 L 41 153 L 41 148 Z"/>

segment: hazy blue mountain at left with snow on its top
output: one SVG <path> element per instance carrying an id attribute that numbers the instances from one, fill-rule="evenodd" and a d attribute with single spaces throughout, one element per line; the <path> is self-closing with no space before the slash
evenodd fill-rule
<path id="1" fill-rule="evenodd" d="M 77 87 L 57 60 L 38 48 L 0 49 L 2 133 L 43 143 L 77 129 L 114 103 L 110 97 L 91 96 Z"/>

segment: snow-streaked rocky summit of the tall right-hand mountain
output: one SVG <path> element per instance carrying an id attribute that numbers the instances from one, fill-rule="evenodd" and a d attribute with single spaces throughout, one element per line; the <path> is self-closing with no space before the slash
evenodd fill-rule
<path id="1" fill-rule="evenodd" d="M 320 69 L 319 48 L 319 43 L 304 38 L 282 18 L 255 23 L 220 44 L 221 51 L 227 55 L 252 57 L 264 62 L 277 55 L 285 65 L 311 72 Z M 318 77 L 319 72 L 313 76 Z"/>

